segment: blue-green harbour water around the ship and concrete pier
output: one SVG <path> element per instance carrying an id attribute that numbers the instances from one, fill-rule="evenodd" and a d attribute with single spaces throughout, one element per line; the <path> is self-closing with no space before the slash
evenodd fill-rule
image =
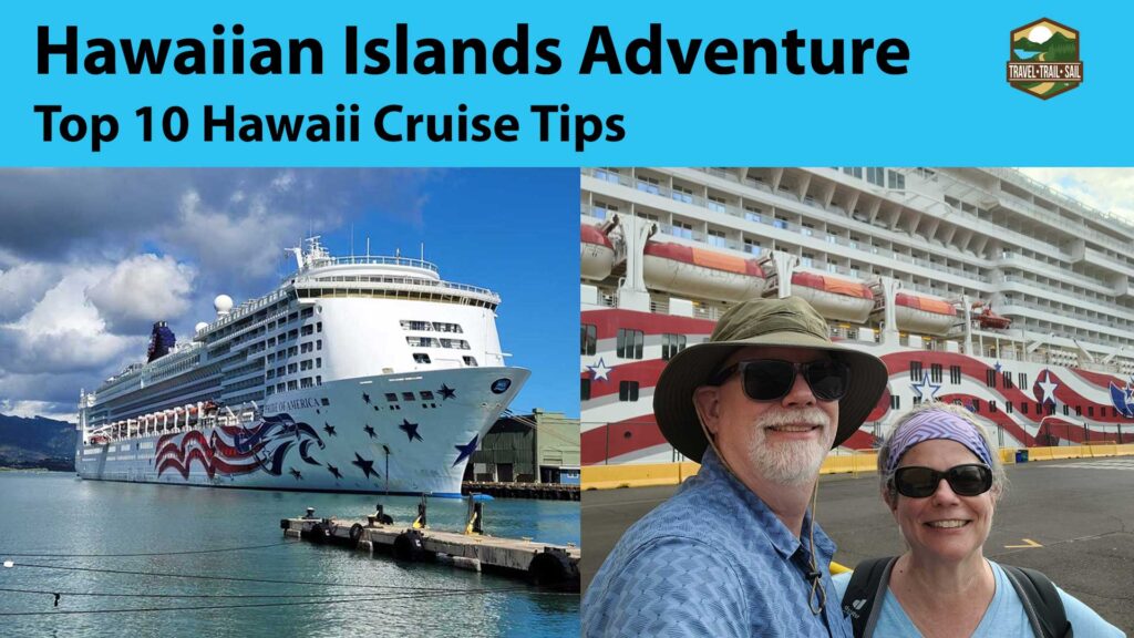
<path id="1" fill-rule="evenodd" d="M 288 539 L 279 528 L 280 519 L 308 506 L 316 517 L 346 518 L 372 513 L 378 502 L 396 522 L 408 524 L 416 515 L 417 500 L 405 496 L 0 472 L 0 561 L 14 563 L 0 566 L 0 635 L 578 636 L 577 595 L 371 559 Z M 430 500 L 430 527 L 462 529 L 466 507 L 464 501 Z M 578 503 L 497 500 L 485 503 L 484 528 L 494 536 L 577 544 L 578 515 Z M 27 613 L 34 615 L 18 615 Z"/>

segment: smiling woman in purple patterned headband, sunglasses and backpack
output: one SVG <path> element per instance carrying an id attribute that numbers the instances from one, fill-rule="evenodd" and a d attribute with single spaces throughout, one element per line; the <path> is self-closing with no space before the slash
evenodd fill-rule
<path id="1" fill-rule="evenodd" d="M 1036 619 L 1044 616 L 1046 607 L 1025 595 L 1033 607 L 1030 614 L 1019 594 L 1026 591 L 1027 584 L 1021 581 L 1029 577 L 1012 568 L 1009 576 L 984 559 L 1005 476 L 988 434 L 967 410 L 926 403 L 911 411 L 882 443 L 878 472 L 882 501 L 908 551 L 871 569 L 880 582 L 888 579 L 888 588 L 863 587 L 862 577 L 854 584 L 855 599 L 845 601 L 845 610 L 857 621 L 856 637 L 1043 635 L 1038 623 L 1043 621 Z M 865 563 L 861 570 L 866 573 Z M 850 573 L 833 578 L 840 597 L 850 578 Z M 1042 574 L 1038 580 L 1049 584 Z M 885 594 L 881 599 L 858 596 L 868 589 Z M 1125 636 L 1075 597 L 1055 590 L 1074 636 Z M 1070 636 L 1065 631 L 1064 626 L 1049 633 Z"/>

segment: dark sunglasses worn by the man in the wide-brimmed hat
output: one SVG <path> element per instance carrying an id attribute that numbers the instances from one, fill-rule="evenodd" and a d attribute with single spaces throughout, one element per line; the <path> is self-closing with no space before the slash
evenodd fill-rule
<path id="1" fill-rule="evenodd" d="M 776 401 L 787 396 L 795 386 L 796 375 L 811 387 L 811 394 L 820 401 L 838 401 L 847 392 L 850 368 L 841 361 L 824 359 L 796 363 L 778 359 L 754 359 L 741 361 L 717 372 L 710 384 L 719 386 L 739 372 L 744 380 L 744 394 L 753 401 Z"/>

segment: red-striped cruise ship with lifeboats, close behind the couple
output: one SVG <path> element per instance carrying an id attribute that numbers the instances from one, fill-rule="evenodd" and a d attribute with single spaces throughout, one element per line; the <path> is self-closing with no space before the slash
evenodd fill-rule
<path id="1" fill-rule="evenodd" d="M 584 465 L 683 460 L 666 361 L 739 300 L 802 296 L 880 356 L 838 453 L 922 401 L 1004 447 L 1134 442 L 1134 226 L 1013 169 L 594 168 L 581 216 Z"/>

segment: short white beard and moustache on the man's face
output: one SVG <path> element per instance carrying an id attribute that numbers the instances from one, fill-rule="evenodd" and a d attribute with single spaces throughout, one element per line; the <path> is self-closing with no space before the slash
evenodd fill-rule
<path id="1" fill-rule="evenodd" d="M 818 440 L 768 442 L 768 427 L 792 423 L 821 426 L 823 435 Z M 771 482 L 784 486 L 806 485 L 819 476 L 819 467 L 823 464 L 831 444 L 831 428 L 827 412 L 819 408 L 771 409 L 753 423 L 748 460 Z"/>

